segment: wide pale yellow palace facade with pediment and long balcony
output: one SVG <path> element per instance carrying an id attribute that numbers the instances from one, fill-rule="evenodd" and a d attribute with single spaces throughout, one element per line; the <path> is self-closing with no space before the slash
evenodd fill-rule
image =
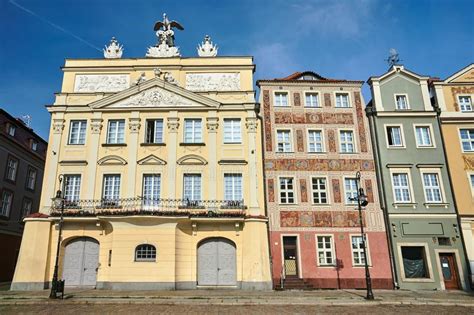
<path id="1" fill-rule="evenodd" d="M 58 189 L 66 287 L 271 289 L 254 70 L 251 57 L 67 59 L 12 289 L 50 284 Z"/>

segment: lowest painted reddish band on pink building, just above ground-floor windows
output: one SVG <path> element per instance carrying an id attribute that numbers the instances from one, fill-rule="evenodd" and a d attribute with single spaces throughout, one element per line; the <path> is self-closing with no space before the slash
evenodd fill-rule
<path id="1" fill-rule="evenodd" d="M 365 221 L 365 212 L 362 213 Z M 360 227 L 359 213 L 348 211 L 280 211 L 281 227 Z"/>

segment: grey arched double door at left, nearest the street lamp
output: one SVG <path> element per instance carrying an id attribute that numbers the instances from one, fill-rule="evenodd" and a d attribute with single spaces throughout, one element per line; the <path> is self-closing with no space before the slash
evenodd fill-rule
<path id="1" fill-rule="evenodd" d="M 95 286 L 99 267 L 99 242 L 78 237 L 66 245 L 63 279 L 66 286 Z"/>

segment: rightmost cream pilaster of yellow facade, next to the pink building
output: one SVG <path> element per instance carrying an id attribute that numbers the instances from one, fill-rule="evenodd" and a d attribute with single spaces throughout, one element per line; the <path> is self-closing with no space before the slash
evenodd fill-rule
<path id="1" fill-rule="evenodd" d="M 245 126 L 248 133 L 248 152 L 249 152 L 249 185 L 250 185 L 250 200 L 249 210 L 252 215 L 261 214 L 258 204 L 258 185 L 257 185 L 257 117 L 254 111 L 249 111 L 246 118 Z M 263 205 L 262 205 L 263 206 Z"/>

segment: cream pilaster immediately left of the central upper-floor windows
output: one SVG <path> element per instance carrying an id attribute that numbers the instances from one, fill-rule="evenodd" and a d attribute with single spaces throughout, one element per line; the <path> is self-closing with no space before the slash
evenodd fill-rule
<path id="1" fill-rule="evenodd" d="M 127 174 L 127 192 L 124 194 L 125 198 L 135 198 L 139 192 L 136 191 L 137 184 L 137 154 L 139 146 L 139 132 L 140 132 L 140 113 L 134 111 L 128 119 L 128 129 L 130 130 L 127 147 L 128 147 L 128 174 Z"/>

